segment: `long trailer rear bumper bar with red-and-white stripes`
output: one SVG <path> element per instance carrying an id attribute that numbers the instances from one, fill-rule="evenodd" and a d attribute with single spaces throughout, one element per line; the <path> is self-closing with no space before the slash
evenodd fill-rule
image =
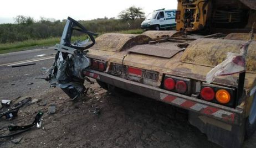
<path id="1" fill-rule="evenodd" d="M 127 91 L 141 94 L 142 96 L 156 99 L 157 101 L 165 102 L 201 115 L 206 115 L 207 117 L 214 118 L 228 124 L 241 125 L 243 123 L 243 110 L 225 107 L 223 105 L 214 104 L 201 99 L 166 91 L 165 89 L 125 80 L 104 72 L 86 70 L 83 71 L 83 74 Z"/>

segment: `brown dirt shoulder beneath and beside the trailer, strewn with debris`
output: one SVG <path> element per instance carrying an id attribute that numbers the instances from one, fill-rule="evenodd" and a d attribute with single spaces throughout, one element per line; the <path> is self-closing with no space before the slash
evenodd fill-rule
<path id="1" fill-rule="evenodd" d="M 22 107 L 11 121 L 2 118 L 1 134 L 10 124 L 32 123 L 38 110 L 44 113 L 42 128 L 14 136 L 23 137 L 18 144 L 0 139 L 0 147 L 219 147 L 188 123 L 183 110 L 137 94 L 113 96 L 97 83 L 86 86 L 87 96 L 75 102 L 60 88 L 35 94 L 42 101 Z M 55 114 L 47 113 L 50 104 L 57 105 Z"/>

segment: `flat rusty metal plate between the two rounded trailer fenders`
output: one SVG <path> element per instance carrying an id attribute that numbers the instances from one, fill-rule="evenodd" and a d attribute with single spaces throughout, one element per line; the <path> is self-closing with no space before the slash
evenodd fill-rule
<path id="1" fill-rule="evenodd" d="M 152 55 L 158 57 L 171 58 L 176 55 L 178 52 L 182 51 L 181 48 L 177 47 L 176 44 L 166 43 L 160 45 L 137 45 L 128 49 L 127 51 L 144 54 L 144 55 Z"/>

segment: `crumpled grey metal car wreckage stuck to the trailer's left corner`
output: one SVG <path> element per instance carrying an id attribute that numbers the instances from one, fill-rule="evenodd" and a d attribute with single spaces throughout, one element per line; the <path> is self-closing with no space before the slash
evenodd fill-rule
<path id="1" fill-rule="evenodd" d="M 76 41 L 71 44 L 71 36 L 73 31 L 85 33 L 89 38 L 85 41 Z M 50 68 L 48 81 L 51 87 L 58 86 L 68 94 L 71 99 L 83 96 L 88 89 L 84 86 L 84 78 L 82 70 L 90 66 L 90 60 L 85 56 L 91 46 L 95 44 L 93 35 L 97 35 L 86 30 L 76 20 L 68 17 L 60 44 L 55 46 L 58 50 L 55 56 L 55 62 Z M 87 79 L 90 81 L 89 79 Z"/>

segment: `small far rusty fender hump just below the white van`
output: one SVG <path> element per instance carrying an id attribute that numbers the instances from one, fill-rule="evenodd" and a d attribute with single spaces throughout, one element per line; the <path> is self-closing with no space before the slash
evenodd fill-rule
<path id="1" fill-rule="evenodd" d="M 145 31 L 142 35 L 149 36 L 152 39 L 162 38 L 162 37 L 176 37 L 181 36 L 181 31 Z"/>

